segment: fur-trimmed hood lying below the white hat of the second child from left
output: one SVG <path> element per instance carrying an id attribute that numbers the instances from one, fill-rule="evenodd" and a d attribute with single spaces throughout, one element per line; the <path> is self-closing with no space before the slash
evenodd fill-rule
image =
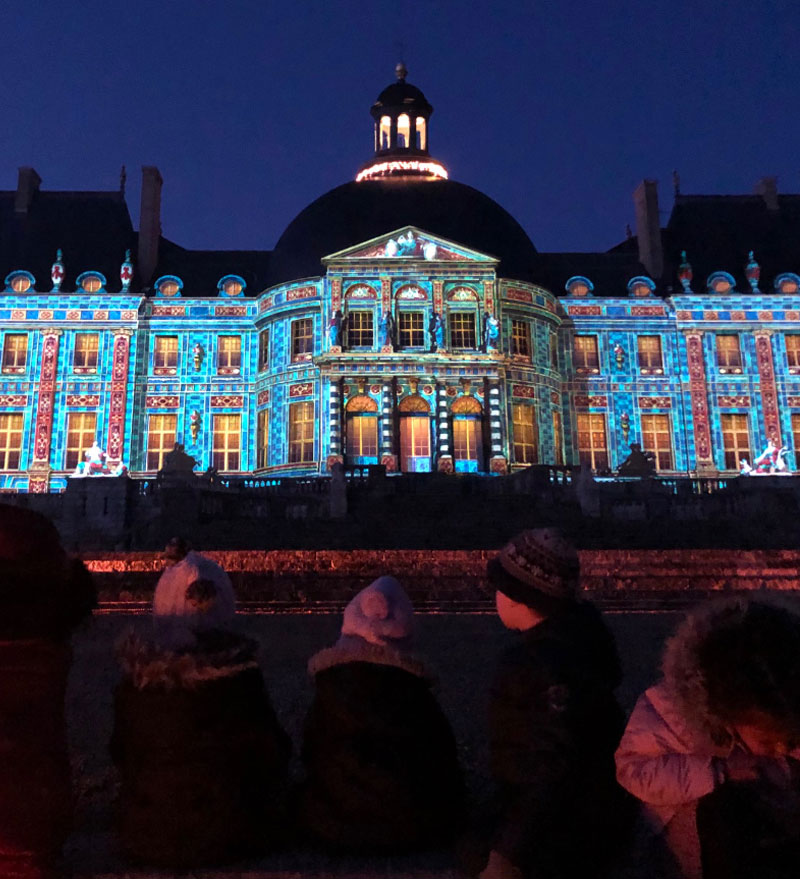
<path id="1" fill-rule="evenodd" d="M 232 632 L 201 632 L 188 648 L 167 647 L 129 632 L 117 647 L 124 674 L 137 690 L 196 689 L 258 668 L 258 645 Z"/>

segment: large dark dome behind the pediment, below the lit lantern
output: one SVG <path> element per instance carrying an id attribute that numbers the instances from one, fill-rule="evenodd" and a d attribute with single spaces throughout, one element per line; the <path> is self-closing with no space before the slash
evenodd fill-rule
<path id="1" fill-rule="evenodd" d="M 502 277 L 536 281 L 536 248 L 496 201 L 453 180 L 405 178 L 345 183 L 312 202 L 275 245 L 271 283 L 319 275 L 322 257 L 403 226 L 498 257 Z"/>

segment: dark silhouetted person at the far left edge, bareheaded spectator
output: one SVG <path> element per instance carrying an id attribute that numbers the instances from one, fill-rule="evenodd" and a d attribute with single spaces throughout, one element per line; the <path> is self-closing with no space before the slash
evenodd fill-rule
<path id="1" fill-rule="evenodd" d="M 69 833 L 69 636 L 95 598 L 88 571 L 67 557 L 48 519 L 0 505 L 2 876 L 45 875 Z"/>

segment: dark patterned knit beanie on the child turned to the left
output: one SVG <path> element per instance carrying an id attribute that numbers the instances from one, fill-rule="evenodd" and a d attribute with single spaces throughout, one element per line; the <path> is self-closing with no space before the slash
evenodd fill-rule
<path id="1" fill-rule="evenodd" d="M 578 554 L 556 528 L 521 532 L 500 550 L 496 564 L 507 576 L 495 578 L 494 585 L 513 601 L 535 603 L 537 595 L 570 601 L 577 595 Z"/>

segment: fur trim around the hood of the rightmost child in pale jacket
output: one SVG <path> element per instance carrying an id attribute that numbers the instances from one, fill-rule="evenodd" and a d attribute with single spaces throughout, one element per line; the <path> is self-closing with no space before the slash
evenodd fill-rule
<path id="1" fill-rule="evenodd" d="M 797 608 L 770 596 L 758 597 L 759 605 L 780 608 L 794 615 Z M 710 602 L 690 613 L 667 642 L 662 661 L 664 685 L 676 708 L 689 727 L 721 747 L 731 744 L 728 725 L 709 705 L 708 672 L 702 667 L 700 655 L 712 632 L 721 629 L 736 631 L 743 624 L 754 600 L 736 596 Z M 731 656 L 729 670 L 735 673 L 737 659 Z"/>

